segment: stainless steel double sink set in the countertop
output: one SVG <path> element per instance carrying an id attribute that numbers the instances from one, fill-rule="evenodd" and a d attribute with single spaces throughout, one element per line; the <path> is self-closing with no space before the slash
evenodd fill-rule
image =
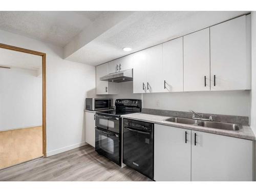
<path id="1" fill-rule="evenodd" d="M 171 117 L 171 118 L 165 119 L 165 121 L 182 123 L 182 124 L 191 124 L 191 125 L 193 124 L 193 125 L 210 127 L 214 129 L 220 129 L 220 130 L 229 130 L 229 131 L 242 130 L 242 126 L 239 124 L 216 122 L 216 121 L 204 121 L 204 120 L 188 119 L 188 118 L 182 118 L 182 117 Z"/>

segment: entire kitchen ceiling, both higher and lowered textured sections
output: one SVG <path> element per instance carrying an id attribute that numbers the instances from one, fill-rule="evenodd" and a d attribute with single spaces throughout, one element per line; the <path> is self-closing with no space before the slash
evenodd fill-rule
<path id="1" fill-rule="evenodd" d="M 248 11 L 0 12 L 0 29 L 63 47 L 65 59 L 101 63 Z M 123 47 L 131 47 L 124 52 Z"/>

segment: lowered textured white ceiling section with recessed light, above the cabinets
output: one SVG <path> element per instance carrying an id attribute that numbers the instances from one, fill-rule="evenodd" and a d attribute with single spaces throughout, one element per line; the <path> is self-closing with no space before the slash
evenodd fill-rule
<path id="1" fill-rule="evenodd" d="M 239 11 L 147 11 L 135 12 L 101 34 L 67 59 L 99 65 L 161 42 L 242 15 Z M 124 52 L 123 47 L 131 47 Z"/>

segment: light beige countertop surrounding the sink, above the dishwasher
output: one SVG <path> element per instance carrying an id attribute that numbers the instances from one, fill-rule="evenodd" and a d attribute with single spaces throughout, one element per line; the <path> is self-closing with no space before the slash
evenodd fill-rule
<path id="1" fill-rule="evenodd" d="M 169 121 L 165 121 L 165 119 L 170 117 L 150 115 L 150 114 L 144 114 L 144 113 L 132 113 L 127 115 L 121 115 L 121 117 L 127 118 L 127 119 L 139 120 L 139 121 L 146 121 L 146 122 L 151 122 L 156 124 L 162 124 L 167 126 L 175 126 L 182 129 L 201 131 L 201 132 L 212 133 L 217 135 L 224 135 L 224 136 L 236 137 L 236 138 L 248 139 L 248 140 L 256 140 L 250 126 L 243 126 L 241 131 L 229 131 L 229 130 L 213 129 L 213 128 L 203 127 L 198 125 L 169 122 Z"/>

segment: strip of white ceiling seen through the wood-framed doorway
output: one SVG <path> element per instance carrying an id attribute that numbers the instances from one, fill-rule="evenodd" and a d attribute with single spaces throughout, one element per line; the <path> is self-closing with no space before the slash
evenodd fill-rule
<path id="1" fill-rule="evenodd" d="M 42 66 L 42 57 L 0 48 L 0 66 L 38 70 Z"/>

